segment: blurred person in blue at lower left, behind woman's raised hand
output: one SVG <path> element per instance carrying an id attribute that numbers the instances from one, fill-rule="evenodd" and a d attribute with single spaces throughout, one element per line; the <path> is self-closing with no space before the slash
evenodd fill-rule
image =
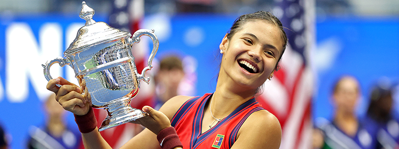
<path id="1" fill-rule="evenodd" d="M 29 130 L 28 149 L 78 149 L 81 135 L 72 131 L 64 122 L 65 110 L 55 100 L 52 93 L 44 103 L 47 114 L 43 128 L 31 126 Z"/>

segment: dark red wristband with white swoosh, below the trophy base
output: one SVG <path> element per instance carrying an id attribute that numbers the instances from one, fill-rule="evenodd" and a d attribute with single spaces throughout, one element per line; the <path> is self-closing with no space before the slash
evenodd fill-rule
<path id="1" fill-rule="evenodd" d="M 179 136 L 174 127 L 163 129 L 159 132 L 157 139 L 161 149 L 175 149 L 176 147 L 183 148 L 183 144 L 180 142 Z"/>

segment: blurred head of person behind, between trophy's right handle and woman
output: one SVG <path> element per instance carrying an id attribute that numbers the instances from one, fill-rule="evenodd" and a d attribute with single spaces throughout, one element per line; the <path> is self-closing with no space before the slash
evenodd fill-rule
<path id="1" fill-rule="evenodd" d="M 161 60 L 160 69 L 155 75 L 156 106 L 161 106 L 174 96 L 178 95 L 178 88 L 184 78 L 182 60 L 177 56 L 168 56 Z"/>

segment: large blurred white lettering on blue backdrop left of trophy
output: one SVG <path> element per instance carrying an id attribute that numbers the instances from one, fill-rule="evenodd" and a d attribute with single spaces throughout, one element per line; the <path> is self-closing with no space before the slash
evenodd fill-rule
<path id="1" fill-rule="evenodd" d="M 49 91 L 41 64 L 62 53 L 62 28 L 58 23 L 45 23 L 36 40 L 27 23 L 12 23 L 5 31 L 5 88 L 10 102 L 23 102 L 28 97 L 29 82 L 39 99 Z M 39 44 L 38 44 L 39 43 Z M 53 78 L 61 76 L 61 67 L 51 69 Z M 28 77 L 30 79 L 28 79 Z"/>

